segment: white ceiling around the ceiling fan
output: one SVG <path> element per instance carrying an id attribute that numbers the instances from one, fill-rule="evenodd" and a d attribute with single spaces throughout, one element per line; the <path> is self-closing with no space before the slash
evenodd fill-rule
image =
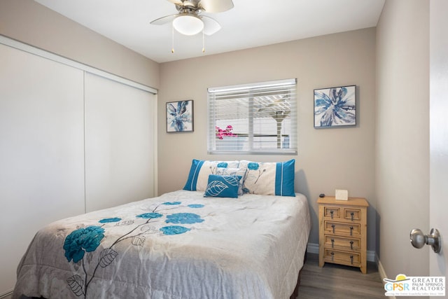
<path id="1" fill-rule="evenodd" d="M 175 32 L 172 53 L 172 26 L 149 24 L 177 13 L 167 0 L 35 1 L 151 60 L 169 62 L 374 27 L 385 0 L 233 0 L 230 11 L 203 13 L 222 27 L 205 36 L 205 53 L 202 34 Z"/>

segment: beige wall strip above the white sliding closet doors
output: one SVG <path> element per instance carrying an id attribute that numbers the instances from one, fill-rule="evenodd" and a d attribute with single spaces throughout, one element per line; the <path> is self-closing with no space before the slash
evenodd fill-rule
<path id="1" fill-rule="evenodd" d="M 159 64 L 33 0 L 0 1 L 0 34 L 71 60 L 159 87 Z"/>

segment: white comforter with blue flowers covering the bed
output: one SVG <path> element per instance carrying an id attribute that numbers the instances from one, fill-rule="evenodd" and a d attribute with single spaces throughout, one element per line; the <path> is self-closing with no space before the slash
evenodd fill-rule
<path id="1" fill-rule="evenodd" d="M 179 190 L 37 232 L 13 298 L 289 298 L 307 199 Z"/>

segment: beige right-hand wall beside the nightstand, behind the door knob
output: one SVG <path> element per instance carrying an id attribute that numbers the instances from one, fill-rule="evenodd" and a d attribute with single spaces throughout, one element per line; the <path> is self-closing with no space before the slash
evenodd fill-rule
<path id="1" fill-rule="evenodd" d="M 377 253 L 388 277 L 428 275 L 429 2 L 386 0 L 377 26 Z"/>

